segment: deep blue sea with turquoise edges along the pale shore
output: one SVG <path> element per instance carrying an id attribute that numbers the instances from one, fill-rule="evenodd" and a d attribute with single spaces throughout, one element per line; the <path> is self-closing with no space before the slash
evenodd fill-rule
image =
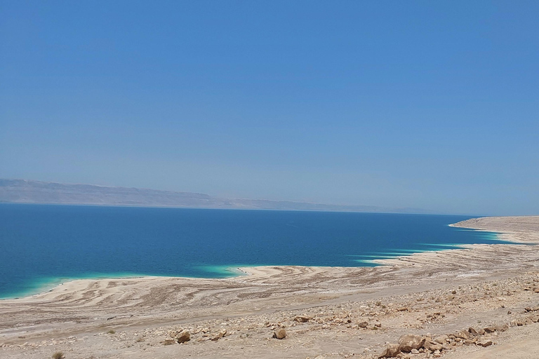
<path id="1" fill-rule="evenodd" d="M 369 259 L 492 243 L 470 217 L 0 204 L 0 298 L 72 278 L 237 275 L 255 265 L 372 266 Z"/>

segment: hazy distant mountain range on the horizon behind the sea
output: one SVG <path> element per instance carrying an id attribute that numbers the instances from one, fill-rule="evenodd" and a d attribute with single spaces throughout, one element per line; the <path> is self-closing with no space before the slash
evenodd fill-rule
<path id="1" fill-rule="evenodd" d="M 414 208 L 383 208 L 370 205 L 327 205 L 322 203 L 269 201 L 265 199 L 220 198 L 191 192 L 104 187 L 93 184 L 61 184 L 27 179 L 0 179 L 0 203 L 430 213 L 427 210 Z"/>

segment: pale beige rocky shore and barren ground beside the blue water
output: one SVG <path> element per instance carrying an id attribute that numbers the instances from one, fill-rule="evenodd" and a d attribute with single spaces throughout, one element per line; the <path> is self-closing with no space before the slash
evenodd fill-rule
<path id="1" fill-rule="evenodd" d="M 539 358 L 539 216 L 454 226 L 515 244 L 375 268 L 74 280 L 0 301 L 0 358 Z"/>

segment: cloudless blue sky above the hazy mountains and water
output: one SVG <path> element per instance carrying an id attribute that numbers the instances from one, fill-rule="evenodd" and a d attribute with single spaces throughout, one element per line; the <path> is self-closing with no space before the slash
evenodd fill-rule
<path id="1" fill-rule="evenodd" d="M 0 177 L 539 215 L 538 15 L 0 0 Z"/>

